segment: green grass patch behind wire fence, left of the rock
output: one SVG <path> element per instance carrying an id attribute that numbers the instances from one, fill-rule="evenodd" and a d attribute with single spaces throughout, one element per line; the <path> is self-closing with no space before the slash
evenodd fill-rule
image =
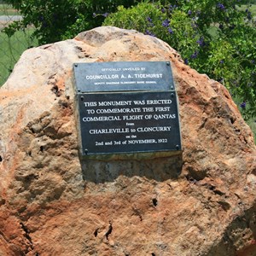
<path id="1" fill-rule="evenodd" d="M 23 51 L 38 44 L 36 40 L 31 40 L 32 32 L 32 29 L 27 29 L 25 32 L 15 32 L 13 37 L 8 38 L 0 31 L 0 86 L 8 79 Z"/>

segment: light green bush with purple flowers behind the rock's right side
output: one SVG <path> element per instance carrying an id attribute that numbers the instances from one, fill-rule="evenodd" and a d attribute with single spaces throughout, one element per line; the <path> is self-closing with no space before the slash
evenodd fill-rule
<path id="1" fill-rule="evenodd" d="M 120 6 L 104 25 L 136 29 L 158 37 L 186 64 L 224 84 L 239 99 L 245 118 L 256 116 L 256 30 L 239 2 L 179 0 Z"/>

